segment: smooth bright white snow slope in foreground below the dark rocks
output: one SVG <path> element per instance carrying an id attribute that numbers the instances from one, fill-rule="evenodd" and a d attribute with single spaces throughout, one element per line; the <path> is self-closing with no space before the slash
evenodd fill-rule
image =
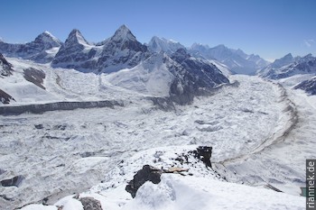
<path id="1" fill-rule="evenodd" d="M 247 195 L 247 196 L 245 196 Z M 146 182 L 124 210 L 302 209 L 305 199 L 263 188 L 209 178 L 163 175 L 158 185 Z"/>

